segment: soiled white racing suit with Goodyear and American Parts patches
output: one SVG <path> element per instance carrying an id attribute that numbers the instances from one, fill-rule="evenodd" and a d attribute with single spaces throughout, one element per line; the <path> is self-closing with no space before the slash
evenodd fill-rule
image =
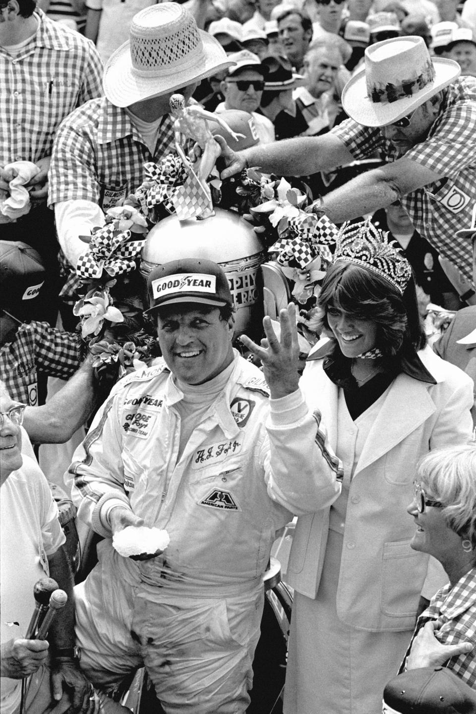
<path id="1" fill-rule="evenodd" d="M 163 364 L 128 375 L 74 454 L 79 518 L 106 537 L 76 586 L 81 667 L 105 687 L 145 664 L 167 714 L 238 714 L 271 545 L 292 514 L 335 501 L 340 464 L 300 391 L 270 400 L 237 354 L 178 459 L 182 396 Z M 168 531 L 163 555 L 139 562 L 112 548 L 106 516 L 121 502 Z"/>

